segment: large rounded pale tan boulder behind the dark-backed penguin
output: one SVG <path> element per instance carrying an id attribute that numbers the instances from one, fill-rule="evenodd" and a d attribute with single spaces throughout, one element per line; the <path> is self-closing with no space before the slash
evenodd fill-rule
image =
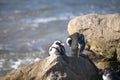
<path id="1" fill-rule="evenodd" d="M 78 16 L 69 22 L 68 32 L 84 33 L 86 49 L 107 58 L 101 61 L 120 61 L 120 14 Z"/>

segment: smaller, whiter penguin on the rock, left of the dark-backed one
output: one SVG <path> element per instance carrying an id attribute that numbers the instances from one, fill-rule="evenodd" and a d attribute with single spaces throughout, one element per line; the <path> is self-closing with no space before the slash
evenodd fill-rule
<path id="1" fill-rule="evenodd" d="M 59 40 L 54 41 L 49 48 L 49 55 L 65 55 L 65 53 L 64 44 Z"/>

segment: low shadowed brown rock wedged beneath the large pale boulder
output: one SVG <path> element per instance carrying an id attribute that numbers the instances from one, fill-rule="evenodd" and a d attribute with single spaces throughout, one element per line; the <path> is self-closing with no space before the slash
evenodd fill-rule
<path id="1" fill-rule="evenodd" d="M 116 72 L 120 71 L 120 62 L 117 60 L 111 60 L 111 59 L 105 58 L 104 56 L 96 54 L 89 50 L 84 50 L 83 54 L 89 57 L 89 59 L 92 60 L 92 62 L 100 70 L 105 68 L 111 68 Z"/>

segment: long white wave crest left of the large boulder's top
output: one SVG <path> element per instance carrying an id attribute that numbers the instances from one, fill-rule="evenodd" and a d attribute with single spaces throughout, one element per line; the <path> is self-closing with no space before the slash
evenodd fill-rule
<path id="1" fill-rule="evenodd" d="M 39 23 L 48 23 L 53 21 L 63 21 L 63 20 L 69 20 L 71 18 L 74 18 L 75 15 L 72 13 L 64 13 L 60 14 L 58 16 L 52 16 L 52 17 L 40 17 L 35 19 L 23 19 L 23 22 L 26 22 L 27 24 L 33 24 L 33 26 L 38 27 Z"/>

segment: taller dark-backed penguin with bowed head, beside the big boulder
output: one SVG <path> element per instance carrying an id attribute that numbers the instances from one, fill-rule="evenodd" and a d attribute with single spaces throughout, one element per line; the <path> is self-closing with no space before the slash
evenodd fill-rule
<path id="1" fill-rule="evenodd" d="M 79 56 L 85 48 L 85 36 L 78 32 L 68 36 L 66 44 L 71 47 L 72 56 Z"/>

